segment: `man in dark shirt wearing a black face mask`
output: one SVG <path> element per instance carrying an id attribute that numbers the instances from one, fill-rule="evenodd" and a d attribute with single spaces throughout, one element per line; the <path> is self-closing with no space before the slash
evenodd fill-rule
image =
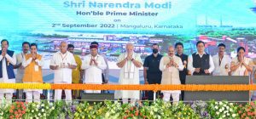
<path id="1" fill-rule="evenodd" d="M 153 54 L 148 55 L 143 64 L 143 75 L 145 84 L 160 84 L 162 71 L 160 71 L 160 59 L 163 55 L 159 54 L 159 45 L 154 43 L 152 45 Z M 160 94 L 160 92 L 158 93 Z M 154 92 L 148 92 L 148 100 L 154 99 Z"/>

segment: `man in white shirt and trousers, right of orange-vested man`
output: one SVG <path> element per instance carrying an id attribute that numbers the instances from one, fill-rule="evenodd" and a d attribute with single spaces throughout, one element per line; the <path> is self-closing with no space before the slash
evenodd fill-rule
<path id="1" fill-rule="evenodd" d="M 50 60 L 49 68 L 55 71 L 54 83 L 71 84 L 72 69 L 76 68 L 73 54 L 67 51 L 67 42 L 61 42 L 61 51 L 55 53 Z M 55 101 L 61 100 L 62 89 L 55 89 Z M 71 90 L 65 89 L 66 101 L 72 100 Z"/>

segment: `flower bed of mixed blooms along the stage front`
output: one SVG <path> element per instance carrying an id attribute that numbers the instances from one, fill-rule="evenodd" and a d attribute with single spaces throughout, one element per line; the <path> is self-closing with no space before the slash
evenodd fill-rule
<path id="1" fill-rule="evenodd" d="M 244 105 L 227 101 L 180 102 L 177 105 L 156 100 L 138 102 L 137 105 L 104 101 L 101 103 L 65 102 L 24 103 L 14 102 L 0 105 L 0 118 L 256 118 L 255 103 Z"/>

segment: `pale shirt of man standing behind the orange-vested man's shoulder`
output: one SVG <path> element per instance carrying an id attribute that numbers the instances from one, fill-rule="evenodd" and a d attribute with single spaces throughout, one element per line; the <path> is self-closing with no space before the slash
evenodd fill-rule
<path id="1" fill-rule="evenodd" d="M 20 54 L 16 54 L 16 65 L 20 65 L 20 63 L 22 63 L 22 61 L 25 59 L 25 54 L 20 53 Z M 22 66 L 20 66 L 17 69 L 17 74 L 16 74 L 16 82 L 22 82 L 22 78 L 24 76 L 24 68 Z"/>

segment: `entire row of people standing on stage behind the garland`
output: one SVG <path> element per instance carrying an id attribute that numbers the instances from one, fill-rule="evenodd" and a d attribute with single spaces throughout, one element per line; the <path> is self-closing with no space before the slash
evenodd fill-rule
<path id="1" fill-rule="evenodd" d="M 43 83 L 42 66 L 44 62 L 42 55 L 38 54 L 36 43 L 23 42 L 22 53 L 14 54 L 9 50 L 9 42 L 6 39 L 1 41 L 0 50 L 0 82 L 23 82 L 23 83 Z M 70 84 L 84 83 L 104 84 L 108 83 L 108 61 L 104 54 L 98 52 L 98 42 L 90 43 L 90 54 L 80 59 L 74 54 L 74 46 L 67 42 L 61 42 L 60 51 L 56 52 L 50 60 L 49 68 L 54 71 L 54 83 Z M 126 52 L 119 55 L 117 65 L 119 71 L 119 84 L 139 84 L 139 69 L 143 66 L 143 76 L 145 84 L 185 84 L 187 75 L 214 75 L 214 76 L 246 76 L 252 72 L 251 59 L 246 58 L 245 49 L 237 48 L 237 56 L 231 59 L 224 54 L 225 45 L 218 44 L 218 54 L 211 56 L 205 52 L 205 43 L 197 42 L 197 52 L 195 54 L 183 54 L 183 43 L 177 42 L 175 46 L 170 46 L 167 55 L 160 54 L 160 46 L 157 43 L 152 45 L 152 54 L 148 55 L 144 63 L 140 54 L 134 52 L 132 43 L 127 43 Z M 30 50 L 30 52 L 29 52 Z M 14 69 L 17 69 L 15 77 Z M 16 79 L 16 80 L 15 80 Z M 72 100 L 72 92 L 65 89 L 66 101 Z M 40 100 L 40 89 L 26 89 L 26 101 Z M 169 101 L 172 96 L 173 101 L 178 101 L 183 91 L 161 91 L 163 99 Z M 5 97 L 11 100 L 14 89 L 2 89 L 0 99 Z M 101 93 L 100 90 L 86 90 L 86 93 Z M 17 91 L 17 97 L 22 99 L 22 90 Z M 55 90 L 55 100 L 61 99 L 62 90 Z M 74 91 L 73 95 L 79 97 L 79 92 Z M 123 99 L 124 103 L 131 99 L 132 102 L 140 99 L 140 92 L 115 91 L 115 99 Z M 33 97 L 33 99 L 32 99 Z M 148 92 L 148 99 L 154 99 L 154 93 Z"/>

